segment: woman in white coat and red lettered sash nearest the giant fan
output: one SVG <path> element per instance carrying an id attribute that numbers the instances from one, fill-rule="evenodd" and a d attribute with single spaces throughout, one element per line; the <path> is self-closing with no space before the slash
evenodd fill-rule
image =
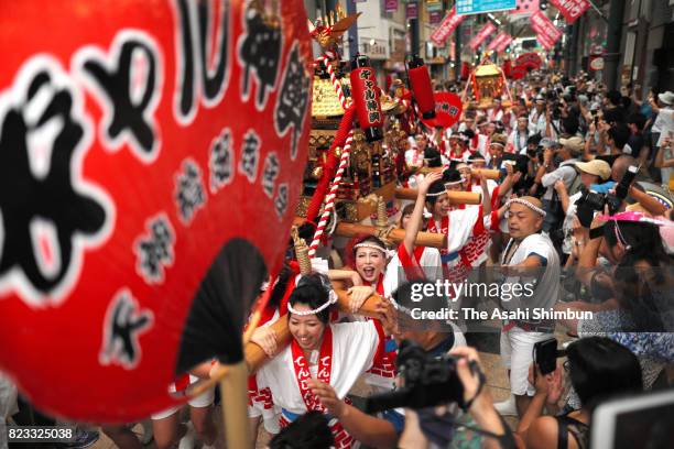
<path id="1" fill-rule="evenodd" d="M 270 387 L 274 404 L 282 408 L 281 426 L 308 410 L 325 410 L 311 391 L 313 380 L 331 385 L 345 398 L 358 377 L 383 354 L 385 336 L 380 321 L 330 324 L 336 303 L 329 281 L 316 273 L 302 277 L 291 294 L 291 344 L 257 373 L 258 383 Z M 392 328 L 390 307 L 382 304 L 378 311 L 385 327 Z M 359 446 L 337 419 L 329 424 L 337 448 Z"/>

